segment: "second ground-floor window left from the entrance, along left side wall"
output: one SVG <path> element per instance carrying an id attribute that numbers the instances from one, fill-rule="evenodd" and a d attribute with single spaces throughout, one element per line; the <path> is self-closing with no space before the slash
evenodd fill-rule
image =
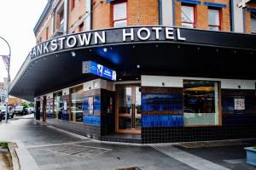
<path id="1" fill-rule="evenodd" d="M 54 94 L 54 118 L 61 119 L 63 114 L 63 100 L 62 100 L 62 92 Z"/>

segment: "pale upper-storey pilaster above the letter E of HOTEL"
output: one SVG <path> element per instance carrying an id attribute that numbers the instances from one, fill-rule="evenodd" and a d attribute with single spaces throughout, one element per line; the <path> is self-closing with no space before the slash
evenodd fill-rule
<path id="1" fill-rule="evenodd" d="M 162 0 L 163 26 L 173 26 L 172 0 Z"/>

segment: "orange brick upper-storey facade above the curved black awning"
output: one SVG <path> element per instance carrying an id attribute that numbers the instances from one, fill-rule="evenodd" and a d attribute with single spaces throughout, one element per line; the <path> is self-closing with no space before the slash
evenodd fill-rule
<path id="1" fill-rule="evenodd" d="M 119 2 L 123 0 L 117 0 Z M 171 0 L 170 0 L 171 1 Z M 72 8 L 72 2 L 69 2 L 69 11 L 68 11 L 68 33 L 84 31 L 84 28 L 81 30 L 79 26 L 84 22 L 84 16 L 88 15 L 85 13 L 85 0 L 74 0 L 75 4 Z M 113 3 L 115 3 L 113 2 Z M 127 25 L 128 26 L 158 26 L 160 23 L 160 4 L 158 0 L 127 0 Z M 174 2 L 174 20 L 175 26 L 181 26 L 181 2 L 178 0 Z M 221 15 L 221 31 L 230 31 L 230 1 L 229 0 L 199 0 L 201 4 L 195 5 L 195 28 L 208 30 L 208 8 L 209 6 L 204 3 L 219 3 L 225 5 L 224 8 L 219 8 Z M 113 3 L 102 2 L 101 0 L 92 1 L 92 29 L 104 29 L 112 27 L 112 6 Z M 188 3 L 189 4 L 189 3 Z M 61 1 L 60 5 L 63 5 Z M 60 6 L 59 5 L 59 6 Z M 191 5 L 191 4 L 190 4 Z M 194 5 L 194 4 L 192 4 Z M 59 8 L 59 7 L 57 7 Z M 256 8 L 256 3 L 247 3 L 247 8 Z M 246 33 L 251 33 L 251 12 L 245 8 L 244 18 L 245 18 L 245 31 Z M 170 10 L 172 8 L 170 7 Z M 37 43 L 47 40 L 46 37 L 46 28 L 48 27 L 48 38 L 52 36 L 52 10 L 49 10 L 49 13 L 41 23 L 38 31 L 35 32 L 37 37 Z M 59 14 L 55 13 L 55 32 L 59 26 L 60 22 Z M 85 23 L 84 23 L 85 24 Z M 242 25 L 243 23 L 241 23 Z M 85 27 L 85 25 L 84 25 Z M 54 32 L 54 33 L 55 33 Z"/>

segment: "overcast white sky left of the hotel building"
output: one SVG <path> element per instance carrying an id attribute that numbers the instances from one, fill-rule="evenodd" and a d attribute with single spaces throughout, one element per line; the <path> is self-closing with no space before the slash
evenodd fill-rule
<path id="1" fill-rule="evenodd" d="M 48 0 L 0 0 L 0 37 L 9 42 L 11 48 L 10 77 L 14 80 L 20 66 L 32 47 L 36 45 L 33 28 Z M 0 39 L 0 55 L 9 54 L 9 48 Z M 0 82 L 7 71 L 0 58 Z"/>

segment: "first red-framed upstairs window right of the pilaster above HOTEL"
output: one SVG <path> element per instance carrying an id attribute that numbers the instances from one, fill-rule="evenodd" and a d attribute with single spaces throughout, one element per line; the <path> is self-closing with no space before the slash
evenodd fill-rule
<path id="1" fill-rule="evenodd" d="M 181 10 L 182 26 L 185 28 L 195 28 L 195 6 L 182 4 Z"/>

